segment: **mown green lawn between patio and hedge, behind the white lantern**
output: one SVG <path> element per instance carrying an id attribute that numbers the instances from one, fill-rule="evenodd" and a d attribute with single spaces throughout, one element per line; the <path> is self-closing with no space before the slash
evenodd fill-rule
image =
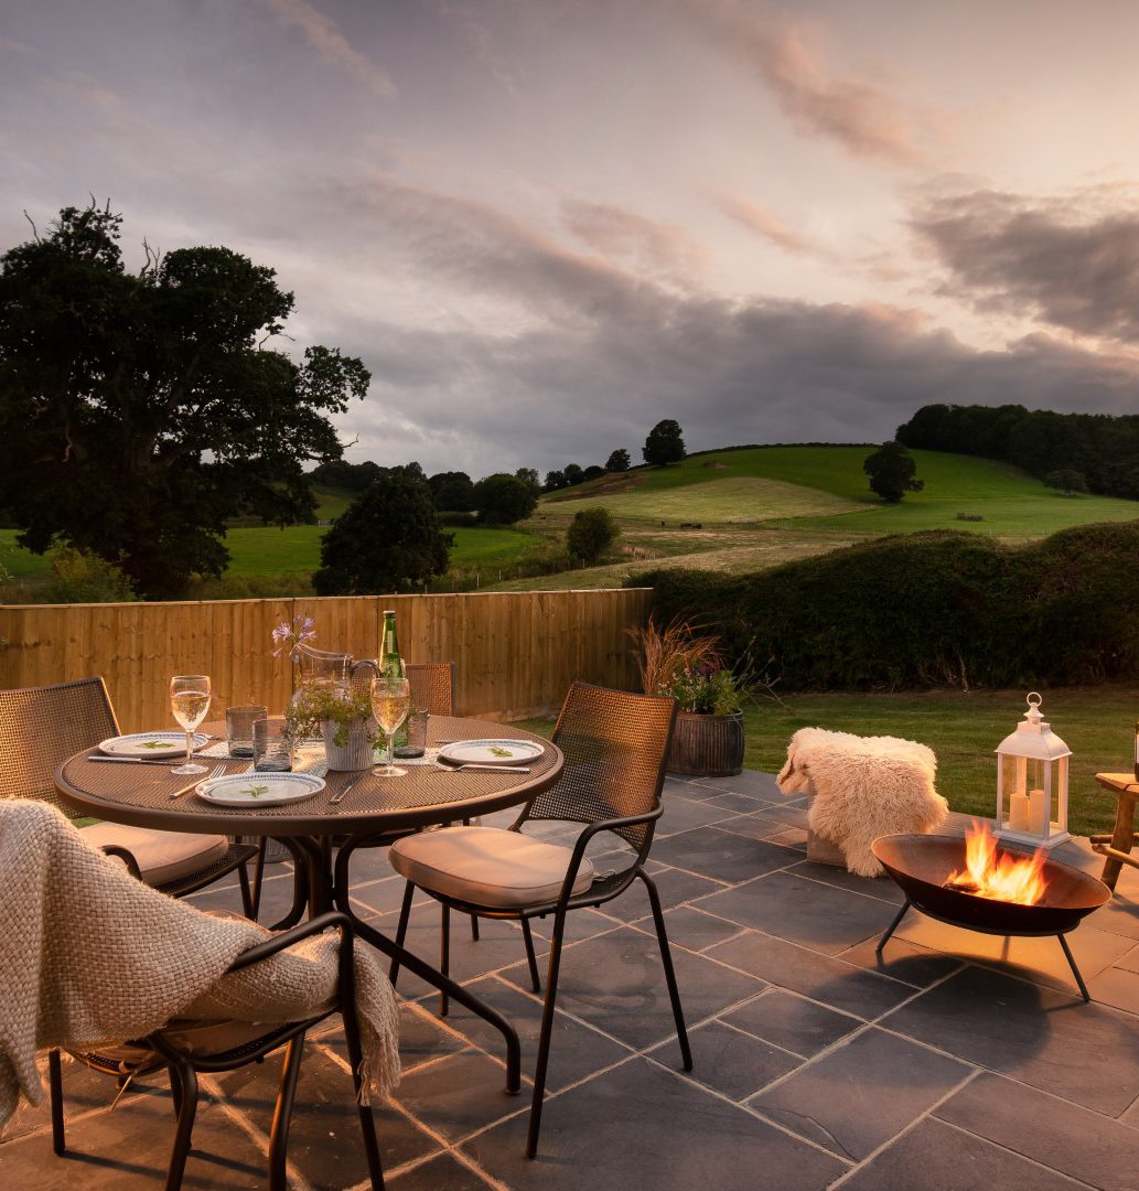
<path id="1" fill-rule="evenodd" d="M 1094 780 L 1122 773 L 1132 763 L 1139 691 L 1125 687 L 1044 692 L 1053 731 L 1072 750 L 1069 827 L 1076 835 L 1109 831 L 1115 799 Z M 745 712 L 749 769 L 778 773 L 798 728 L 820 727 L 859 736 L 903 736 L 928 744 L 938 756 L 938 791 L 956 811 L 992 817 L 996 807 L 994 749 L 1025 711 L 1022 691 L 972 694 L 797 694 L 788 706 L 772 699 Z M 553 722 L 524 723 L 549 735 Z"/>

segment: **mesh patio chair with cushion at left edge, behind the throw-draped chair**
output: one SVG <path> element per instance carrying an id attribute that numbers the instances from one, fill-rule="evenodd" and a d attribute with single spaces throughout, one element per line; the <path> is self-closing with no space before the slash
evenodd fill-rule
<path id="1" fill-rule="evenodd" d="M 0 798 L 50 803 L 75 819 L 60 798 L 55 771 L 80 749 L 119 735 L 118 721 L 101 678 L 54 686 L 0 691 Z M 237 872 L 242 908 L 250 913 L 245 861 L 256 848 L 231 843 L 224 835 L 157 831 L 119 823 L 82 828 L 97 848 L 119 856 L 144 884 L 185 897 Z"/>

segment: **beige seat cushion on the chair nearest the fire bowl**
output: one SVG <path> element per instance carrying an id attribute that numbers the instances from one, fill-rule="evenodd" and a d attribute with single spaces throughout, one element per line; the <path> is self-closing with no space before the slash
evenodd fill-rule
<path id="1" fill-rule="evenodd" d="M 392 867 L 421 888 L 474 905 L 544 905 L 561 892 L 572 853 L 518 831 L 448 827 L 392 844 Z M 581 861 L 573 892 L 593 884 L 593 865 Z"/>

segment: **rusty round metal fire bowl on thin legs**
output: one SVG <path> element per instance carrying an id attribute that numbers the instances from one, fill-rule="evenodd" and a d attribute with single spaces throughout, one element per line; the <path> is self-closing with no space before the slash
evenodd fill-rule
<path id="1" fill-rule="evenodd" d="M 1103 881 L 1059 860 L 1046 859 L 1041 873 L 1046 881 L 1044 897 L 1034 905 L 1022 905 L 946 886 L 951 873 L 965 868 L 964 836 L 884 835 L 871 847 L 905 894 L 905 904 L 878 943 L 879 955 L 911 905 L 939 922 L 986 935 L 1056 935 L 1084 1000 L 1089 999 L 1064 935 L 1110 899 L 1112 891 Z M 1009 848 L 998 848 L 1000 852 L 1025 855 Z"/>

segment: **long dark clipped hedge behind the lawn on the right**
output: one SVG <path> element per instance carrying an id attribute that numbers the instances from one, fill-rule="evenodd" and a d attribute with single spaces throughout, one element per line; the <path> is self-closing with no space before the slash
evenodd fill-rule
<path id="1" fill-rule="evenodd" d="M 1044 686 L 1139 678 L 1139 522 L 1032 545 L 934 531 L 726 578 L 660 570 L 658 619 L 720 634 L 782 690 Z"/>

